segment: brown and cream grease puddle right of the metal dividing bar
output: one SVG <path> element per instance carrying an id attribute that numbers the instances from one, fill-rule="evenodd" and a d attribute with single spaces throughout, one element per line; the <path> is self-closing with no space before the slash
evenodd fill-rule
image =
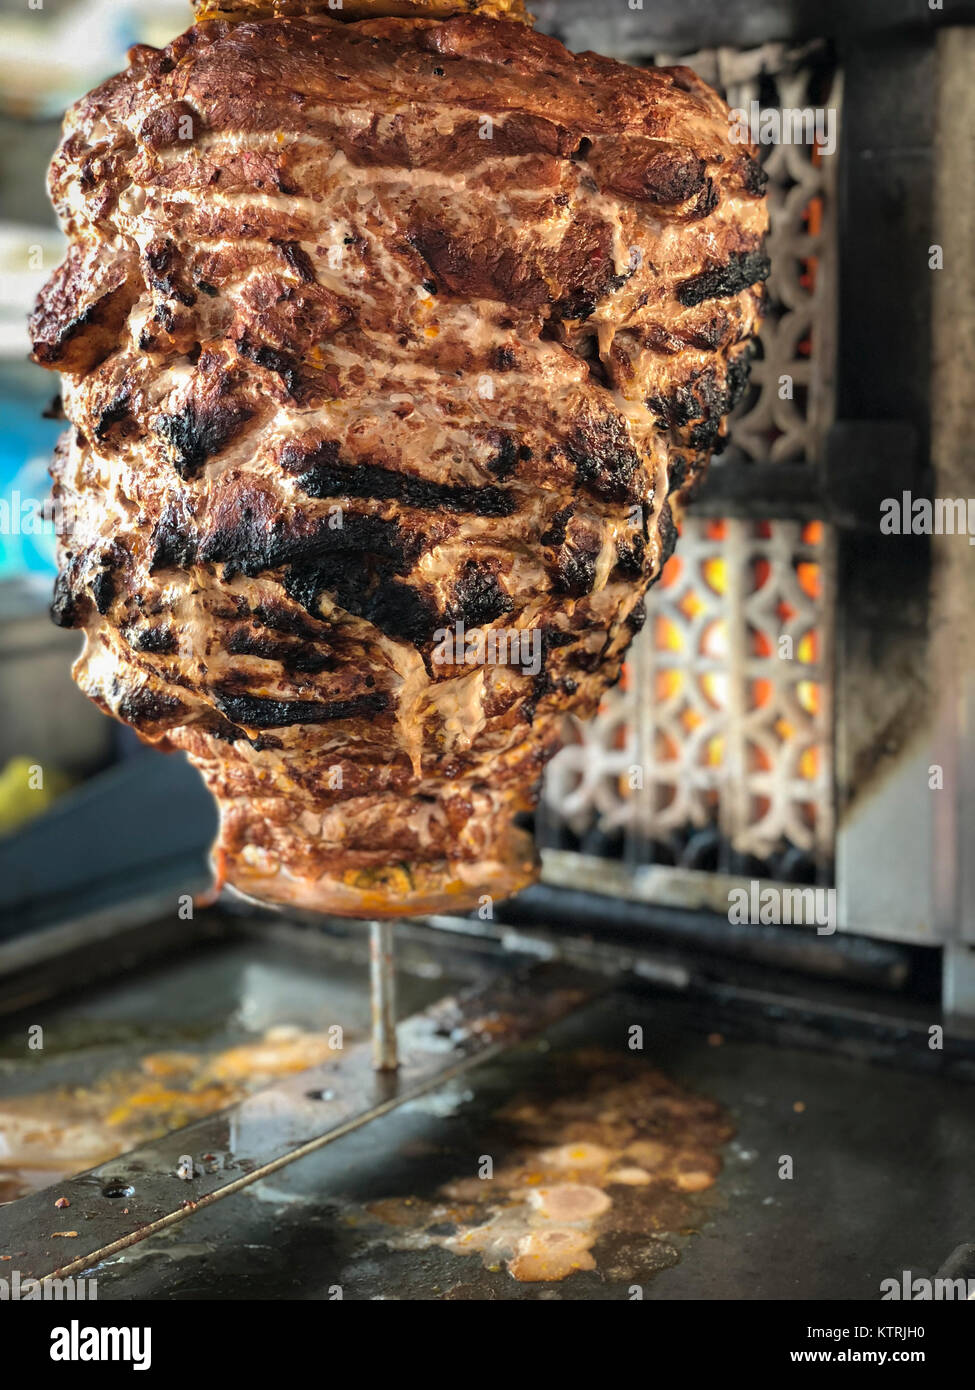
<path id="1" fill-rule="evenodd" d="M 441 1201 L 374 1202 L 370 1213 L 395 1230 L 387 1244 L 478 1255 L 522 1283 L 601 1261 L 612 1279 L 675 1264 L 665 1237 L 694 1229 L 690 1194 L 720 1172 L 726 1112 L 637 1059 L 583 1051 L 570 1061 L 587 1074 L 581 1091 L 517 1097 L 497 1113 L 485 1150 L 506 1156 L 492 1176 L 445 1183 Z"/>

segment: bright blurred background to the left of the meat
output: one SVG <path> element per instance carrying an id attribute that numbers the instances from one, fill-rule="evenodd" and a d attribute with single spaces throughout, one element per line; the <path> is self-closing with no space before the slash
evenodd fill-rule
<path id="1" fill-rule="evenodd" d="M 0 834 L 134 746 L 75 689 L 78 634 L 47 617 L 56 535 L 40 509 L 64 425 L 57 378 L 26 359 L 26 316 L 64 253 L 46 185 L 64 110 L 188 17 L 186 0 L 0 0 Z"/>

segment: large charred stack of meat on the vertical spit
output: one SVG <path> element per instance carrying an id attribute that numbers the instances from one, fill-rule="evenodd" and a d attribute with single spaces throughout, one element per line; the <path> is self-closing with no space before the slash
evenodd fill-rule
<path id="1" fill-rule="evenodd" d="M 516 817 L 744 389 L 755 150 L 688 70 L 506 0 L 232 8 L 134 49 L 54 156 L 56 619 L 200 769 L 239 890 L 466 910 L 533 878 Z"/>

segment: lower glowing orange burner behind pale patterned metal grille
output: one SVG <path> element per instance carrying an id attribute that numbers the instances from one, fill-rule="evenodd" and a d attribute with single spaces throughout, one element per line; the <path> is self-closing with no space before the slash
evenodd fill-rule
<path id="1" fill-rule="evenodd" d="M 832 566 L 819 521 L 686 518 L 625 678 L 549 769 L 549 816 L 637 859 L 711 833 L 726 856 L 829 865 Z"/>

